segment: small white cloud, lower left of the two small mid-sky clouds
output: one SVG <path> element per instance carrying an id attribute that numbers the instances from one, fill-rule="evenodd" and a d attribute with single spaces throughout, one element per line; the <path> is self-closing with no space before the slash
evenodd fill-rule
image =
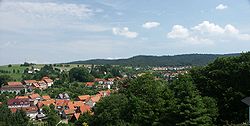
<path id="1" fill-rule="evenodd" d="M 136 38 L 138 36 L 137 32 L 129 31 L 128 27 L 113 28 L 112 31 L 114 35 L 125 36 L 127 38 Z"/>

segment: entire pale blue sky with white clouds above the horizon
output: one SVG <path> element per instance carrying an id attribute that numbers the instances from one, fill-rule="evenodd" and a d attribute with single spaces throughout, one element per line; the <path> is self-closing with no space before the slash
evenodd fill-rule
<path id="1" fill-rule="evenodd" d="M 0 65 L 249 50 L 249 0 L 0 0 Z"/>

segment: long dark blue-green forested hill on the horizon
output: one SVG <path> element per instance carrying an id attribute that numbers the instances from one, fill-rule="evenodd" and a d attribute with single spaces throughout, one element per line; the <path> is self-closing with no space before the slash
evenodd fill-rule
<path id="1" fill-rule="evenodd" d="M 240 53 L 234 54 L 183 54 L 174 56 L 146 56 L 138 55 L 128 59 L 93 59 L 85 61 L 74 61 L 68 64 L 111 64 L 111 65 L 129 65 L 129 66 L 202 66 L 215 60 L 217 57 L 239 56 Z"/>

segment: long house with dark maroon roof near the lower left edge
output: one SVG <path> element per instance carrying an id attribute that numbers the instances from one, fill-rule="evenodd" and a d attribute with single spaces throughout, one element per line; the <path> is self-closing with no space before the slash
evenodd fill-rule
<path id="1" fill-rule="evenodd" d="M 7 105 L 8 108 L 25 108 L 25 107 L 30 107 L 30 101 L 28 98 L 9 99 Z"/>

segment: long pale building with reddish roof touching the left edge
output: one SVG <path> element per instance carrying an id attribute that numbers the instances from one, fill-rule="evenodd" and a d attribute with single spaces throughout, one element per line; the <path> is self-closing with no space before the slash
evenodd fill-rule
<path id="1" fill-rule="evenodd" d="M 24 91 L 24 93 L 26 93 L 27 87 L 21 82 L 8 82 L 7 85 L 2 86 L 0 90 L 1 93 L 10 92 L 18 94 L 21 93 L 21 91 Z"/>

